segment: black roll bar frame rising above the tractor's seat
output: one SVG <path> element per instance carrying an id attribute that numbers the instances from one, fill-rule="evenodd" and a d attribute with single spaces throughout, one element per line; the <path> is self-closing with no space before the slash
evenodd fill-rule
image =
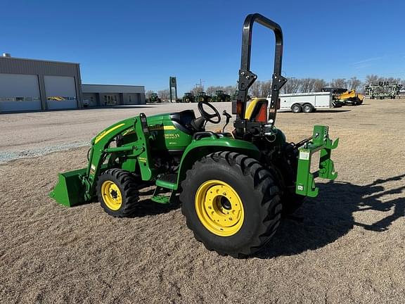
<path id="1" fill-rule="evenodd" d="M 274 72 L 271 82 L 271 101 L 269 106 L 269 125 L 274 125 L 276 121 L 278 92 L 281 87 L 287 82 L 287 79 L 281 75 L 281 61 L 283 59 L 283 31 L 280 25 L 270 19 L 260 15 L 259 13 L 250 14 L 245 18 L 243 23 L 242 34 L 242 56 L 240 60 L 239 80 L 238 80 L 238 96 L 236 98 L 236 128 L 250 129 L 257 127 L 257 122 L 248 122 L 245 120 L 246 103 L 248 102 L 248 90 L 257 79 L 257 75 L 250 71 L 250 53 L 252 44 L 252 29 L 253 23 L 259 23 L 264 27 L 269 28 L 274 32 L 276 37 L 276 50 L 274 53 Z M 240 104 L 238 104 L 240 103 Z"/>

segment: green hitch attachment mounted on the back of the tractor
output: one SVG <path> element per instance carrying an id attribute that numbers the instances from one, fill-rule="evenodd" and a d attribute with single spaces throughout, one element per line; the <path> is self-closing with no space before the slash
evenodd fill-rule
<path id="1" fill-rule="evenodd" d="M 335 172 L 333 160 L 330 153 L 337 148 L 339 139 L 332 141 L 329 138 L 327 126 L 314 126 L 314 133 L 309 141 L 306 141 L 301 148 L 298 148 L 298 170 L 295 183 L 295 193 L 302 196 L 316 197 L 319 188 L 315 185 L 315 178 L 336 179 L 338 172 Z M 311 158 L 314 153 L 320 151 L 319 170 L 311 172 Z"/>

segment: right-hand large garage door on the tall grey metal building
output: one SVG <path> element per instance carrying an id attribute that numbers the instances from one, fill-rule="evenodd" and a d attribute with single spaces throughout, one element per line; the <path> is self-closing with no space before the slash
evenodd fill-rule
<path id="1" fill-rule="evenodd" d="M 76 84 L 74 77 L 45 76 L 45 91 L 48 108 L 77 108 Z"/>

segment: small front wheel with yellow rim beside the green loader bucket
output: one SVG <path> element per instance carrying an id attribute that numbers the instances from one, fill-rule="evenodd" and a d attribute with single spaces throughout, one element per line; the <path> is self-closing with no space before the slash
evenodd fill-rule
<path id="1" fill-rule="evenodd" d="M 105 171 L 96 186 L 101 208 L 114 217 L 127 217 L 134 213 L 139 200 L 136 179 L 121 169 Z"/>

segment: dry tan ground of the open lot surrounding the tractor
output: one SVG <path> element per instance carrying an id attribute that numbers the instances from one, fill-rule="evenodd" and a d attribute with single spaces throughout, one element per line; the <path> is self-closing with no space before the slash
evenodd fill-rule
<path id="1" fill-rule="evenodd" d="M 290 141 L 330 126 L 339 176 L 248 260 L 205 250 L 179 205 L 145 199 L 116 219 L 98 203 L 48 198 L 57 172 L 85 165 L 86 147 L 72 142 L 167 107 L 187 108 L 0 115 L 1 303 L 405 303 L 405 100 L 279 113 Z"/>

